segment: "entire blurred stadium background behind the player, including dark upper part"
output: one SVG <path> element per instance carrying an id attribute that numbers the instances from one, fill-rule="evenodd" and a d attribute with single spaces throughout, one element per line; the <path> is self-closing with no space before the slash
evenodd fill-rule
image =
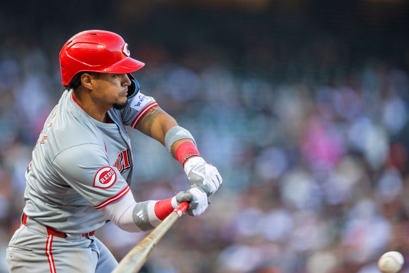
<path id="1" fill-rule="evenodd" d="M 0 26 L 0 272 L 62 93 L 59 50 L 86 29 L 125 38 L 146 63 L 142 92 L 224 180 L 144 272 L 372 273 L 385 251 L 409 260 L 406 0 L 3 1 Z M 186 188 L 159 143 L 129 134 L 137 200 Z M 107 224 L 97 236 L 120 260 L 146 234 Z"/>

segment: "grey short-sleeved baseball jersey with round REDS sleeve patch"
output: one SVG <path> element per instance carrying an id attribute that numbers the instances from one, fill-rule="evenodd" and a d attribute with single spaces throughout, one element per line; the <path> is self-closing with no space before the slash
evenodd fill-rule
<path id="1" fill-rule="evenodd" d="M 64 233 L 88 233 L 108 220 L 98 209 L 129 191 L 133 160 L 124 125 L 136 128 L 157 106 L 138 93 L 112 123 L 99 122 L 65 91 L 47 118 L 33 150 L 24 194 L 24 213 Z"/>

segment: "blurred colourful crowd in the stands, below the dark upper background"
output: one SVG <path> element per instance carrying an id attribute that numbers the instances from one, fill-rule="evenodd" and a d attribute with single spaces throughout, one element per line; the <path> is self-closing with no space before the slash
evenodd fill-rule
<path id="1" fill-rule="evenodd" d="M 31 151 L 63 92 L 58 52 L 23 42 L 0 44 L 0 272 Z M 409 75 L 376 59 L 332 70 L 342 51 L 315 42 L 317 60 L 253 45 L 245 57 L 259 66 L 245 68 L 203 50 L 177 61 L 160 45 L 131 50 L 147 64 L 134 75 L 141 92 L 192 132 L 223 177 L 208 211 L 181 218 L 144 272 L 375 273 L 385 251 L 409 260 Z M 187 188 L 160 143 L 128 133 L 137 201 Z M 118 260 L 146 235 L 111 223 L 97 232 Z"/>

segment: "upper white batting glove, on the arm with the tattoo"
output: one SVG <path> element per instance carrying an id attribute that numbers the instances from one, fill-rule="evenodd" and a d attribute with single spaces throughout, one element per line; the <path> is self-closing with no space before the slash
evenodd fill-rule
<path id="1" fill-rule="evenodd" d="M 185 163 L 185 173 L 188 176 L 191 187 L 198 186 L 206 192 L 208 196 L 217 192 L 223 180 L 216 167 L 206 163 L 199 157 L 192 157 Z"/>

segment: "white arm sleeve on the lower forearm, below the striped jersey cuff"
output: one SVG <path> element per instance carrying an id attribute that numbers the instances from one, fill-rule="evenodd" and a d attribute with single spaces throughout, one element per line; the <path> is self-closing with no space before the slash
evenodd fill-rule
<path id="1" fill-rule="evenodd" d="M 146 202 L 148 202 L 146 205 L 148 219 L 144 220 L 147 222 L 147 225 L 156 227 L 161 222 L 161 220 L 159 220 L 155 214 L 155 204 L 157 201 L 149 200 Z M 135 224 L 133 220 L 134 208 L 138 204 L 141 203 L 135 202 L 132 193 L 129 191 L 120 200 L 101 208 L 100 211 L 104 215 L 106 215 L 106 217 L 108 217 L 113 223 L 127 232 L 143 232 L 146 230 L 142 230 L 139 226 L 137 226 L 137 224 Z"/>

